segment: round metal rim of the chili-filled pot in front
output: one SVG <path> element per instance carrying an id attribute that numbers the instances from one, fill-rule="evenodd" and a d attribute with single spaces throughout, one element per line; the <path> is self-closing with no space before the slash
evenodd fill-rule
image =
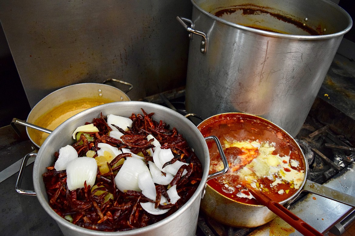
<path id="1" fill-rule="evenodd" d="M 63 127 L 67 126 L 70 122 L 72 122 L 72 120 L 76 120 L 78 117 L 84 117 L 88 114 L 92 114 L 93 112 L 97 113 L 97 111 L 101 110 L 102 107 L 104 106 L 111 106 L 112 108 L 116 108 L 117 105 L 119 106 L 130 106 L 130 105 L 136 105 L 136 106 L 140 106 L 140 107 L 146 107 L 146 105 L 148 105 L 148 107 L 150 109 L 152 109 L 154 107 L 154 109 L 159 109 L 162 110 L 164 112 L 168 112 L 170 114 L 174 114 L 176 116 L 178 116 L 180 119 L 182 119 L 184 121 L 184 123 L 189 126 L 192 129 L 195 129 L 195 133 L 197 135 L 197 137 L 200 137 L 202 145 L 203 145 L 203 150 L 202 152 L 204 154 L 206 154 L 206 156 L 204 157 L 198 157 L 200 158 L 206 158 L 206 163 L 204 166 L 202 166 L 203 168 L 203 173 L 202 173 L 202 178 L 201 178 L 201 183 L 198 185 L 196 191 L 194 192 L 194 194 L 191 196 L 191 198 L 182 206 L 180 207 L 176 212 L 174 212 L 173 214 L 169 215 L 168 217 L 166 217 L 163 220 L 160 220 L 154 224 L 145 226 L 143 228 L 139 228 L 139 229 L 133 229 L 133 230 L 129 230 L 129 231 L 115 231 L 115 232 L 105 232 L 105 231 L 96 231 L 96 230 L 90 230 L 90 229 L 86 229 L 80 226 L 77 226 L 75 224 L 70 223 L 69 221 L 65 220 L 64 218 L 60 217 L 60 215 L 58 215 L 57 213 L 54 212 L 54 210 L 49 206 L 48 204 L 48 197 L 45 194 L 42 194 L 42 192 L 40 191 L 40 181 L 43 182 L 42 178 L 36 178 L 37 176 L 35 175 L 35 173 L 39 172 L 39 162 L 40 162 L 40 156 L 38 158 L 38 155 L 41 155 L 43 150 L 45 149 L 45 147 L 48 145 L 48 143 L 52 142 L 52 139 L 55 139 L 54 136 L 60 131 Z M 119 113 L 116 112 L 116 113 Z M 107 114 L 103 114 L 103 115 L 107 115 Z M 99 117 L 99 113 L 96 114 L 96 116 Z M 51 134 L 49 134 L 48 138 L 44 141 L 42 147 L 39 149 L 37 157 L 35 159 L 34 162 L 34 167 L 33 167 L 33 185 L 34 185 L 34 190 L 36 192 L 36 196 L 41 204 L 41 206 L 44 208 L 44 210 L 50 215 L 50 217 L 52 217 L 57 224 L 63 225 L 73 231 L 76 232 L 80 232 L 81 234 L 87 234 L 87 235 L 95 235 L 95 236 L 99 236 L 99 235 L 115 235 L 115 236 L 119 236 L 119 235 L 138 235 L 138 234 L 142 234 L 146 231 L 155 229 L 155 228 L 159 228 L 160 226 L 165 225 L 166 223 L 176 219 L 177 217 L 179 217 L 179 215 L 186 211 L 196 200 L 198 200 L 197 198 L 200 198 L 199 201 L 201 201 L 201 194 L 202 191 L 204 190 L 205 184 L 207 182 L 207 177 L 208 177 L 208 167 L 209 167 L 209 152 L 208 152 L 208 148 L 207 148 L 207 143 L 205 142 L 202 133 L 198 130 L 198 128 L 193 125 L 193 123 L 187 119 L 185 116 L 181 115 L 180 113 L 178 113 L 177 111 L 174 111 L 172 109 L 169 109 L 167 107 L 164 107 L 162 105 L 159 104 L 155 104 L 155 103 L 149 103 L 149 102 L 141 102 L 141 101 L 122 101 L 122 102 L 113 102 L 113 103 L 108 103 L 108 104 L 102 104 L 102 105 L 98 105 L 96 107 L 93 108 L 89 108 L 87 110 L 84 110 L 72 117 L 70 117 L 68 120 L 64 121 L 61 125 L 59 125 Z M 40 174 L 40 177 L 42 177 L 42 173 Z M 39 194 L 37 194 L 39 192 Z"/>

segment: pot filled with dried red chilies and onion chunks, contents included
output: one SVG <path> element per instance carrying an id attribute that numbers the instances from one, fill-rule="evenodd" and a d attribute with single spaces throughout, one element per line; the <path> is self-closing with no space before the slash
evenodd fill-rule
<path id="1" fill-rule="evenodd" d="M 225 164 L 213 174 L 209 140 Z M 38 151 L 33 182 L 64 235 L 195 235 L 206 182 L 227 170 L 217 138 L 169 108 L 127 101 L 56 128 Z"/>

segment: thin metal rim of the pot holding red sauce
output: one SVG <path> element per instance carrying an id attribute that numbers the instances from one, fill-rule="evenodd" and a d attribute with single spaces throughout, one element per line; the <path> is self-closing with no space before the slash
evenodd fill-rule
<path id="1" fill-rule="evenodd" d="M 305 185 L 306 183 L 306 180 L 307 180 L 307 175 L 308 175 L 308 162 L 306 160 L 306 157 L 302 151 L 302 148 L 300 147 L 300 145 L 296 142 L 296 139 L 294 139 L 288 132 L 286 132 L 283 128 L 281 128 L 280 126 L 276 125 L 275 123 L 263 118 L 263 117 L 260 117 L 260 116 L 257 116 L 257 115 L 253 115 L 253 114 L 249 114 L 249 113 L 242 113 L 242 112 L 227 112 L 227 113 L 220 113 L 220 114 L 216 114 L 216 115 L 212 115 L 210 117 L 208 117 L 207 119 L 204 119 L 203 121 L 201 121 L 198 125 L 197 125 L 197 128 L 202 125 L 204 122 L 208 121 L 209 119 L 212 119 L 216 116 L 221 116 L 221 115 L 229 115 L 229 114 L 232 114 L 232 115 L 242 115 L 242 116 L 249 116 L 249 117 L 254 117 L 258 120 L 262 120 L 266 123 L 269 123 L 271 126 L 275 126 L 277 127 L 278 129 L 280 129 L 282 132 L 284 132 L 288 138 L 290 138 L 291 140 L 293 140 L 293 142 L 296 144 L 297 148 L 299 149 L 299 151 L 301 152 L 301 156 L 303 157 L 303 161 L 304 161 L 304 166 L 305 166 L 305 170 L 304 170 L 304 179 L 302 181 L 302 184 L 300 185 L 300 188 L 293 194 L 291 195 L 290 197 L 286 198 L 285 200 L 279 202 L 281 205 L 284 205 L 285 203 L 287 202 L 291 202 L 294 198 L 296 198 L 300 192 L 302 191 L 303 189 L 303 186 Z M 224 196 L 223 194 L 221 194 L 220 192 L 218 192 L 217 190 L 215 190 L 214 188 L 212 188 L 208 183 L 206 183 L 206 186 L 208 186 L 208 188 L 210 188 L 211 190 L 213 190 L 214 192 L 216 192 L 217 194 L 219 194 L 221 197 L 224 197 L 232 202 L 235 202 L 235 203 L 240 203 L 242 205 L 246 205 L 246 206 L 253 206 L 253 207 L 266 207 L 264 205 L 256 205 L 256 204 L 249 204 L 249 203 L 245 203 L 245 202 L 239 202 L 239 201 L 236 201 L 234 199 L 231 199 L 227 196 Z"/>

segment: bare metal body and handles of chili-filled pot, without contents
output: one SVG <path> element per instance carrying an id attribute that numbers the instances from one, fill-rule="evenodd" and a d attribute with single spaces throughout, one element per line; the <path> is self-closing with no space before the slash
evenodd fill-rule
<path id="1" fill-rule="evenodd" d="M 83 125 L 85 122 L 91 122 L 93 118 L 100 117 L 100 113 L 104 116 L 109 114 L 115 114 L 120 116 L 129 117 L 132 113 L 142 113 L 141 108 L 147 113 L 154 113 L 154 120 L 163 120 L 168 123 L 170 127 L 176 127 L 179 133 L 187 140 L 189 145 L 195 151 L 197 157 L 200 159 L 203 169 L 203 175 L 201 183 L 198 186 L 195 193 L 192 195 L 190 200 L 188 200 L 185 205 L 183 205 L 178 211 L 171 214 L 169 217 L 146 227 L 140 229 L 129 230 L 125 232 L 102 232 L 94 231 L 85 228 L 81 228 L 77 225 L 70 223 L 69 221 L 60 217 L 48 204 L 48 197 L 46 194 L 45 186 L 43 183 L 42 174 L 47 172 L 46 167 L 53 165 L 54 163 L 54 152 L 58 151 L 61 147 L 72 143 L 72 133 L 78 127 Z M 209 137 L 206 140 L 213 139 L 219 144 L 217 139 Z M 219 144 L 220 145 L 220 144 Z M 222 150 L 222 147 L 220 147 Z M 32 154 L 35 155 L 35 154 Z M 221 155 L 224 156 L 223 151 Z M 27 157 L 26 157 L 27 158 Z M 19 187 L 21 183 L 21 175 L 23 173 L 23 167 L 26 166 L 27 159 L 24 158 L 22 163 L 22 168 L 20 171 L 18 184 L 16 188 Z M 224 157 L 225 158 L 225 157 Z M 201 132 L 197 129 L 193 123 L 186 117 L 180 115 L 176 111 L 169 108 L 163 107 L 161 105 L 147 103 L 147 102 L 137 102 L 137 101 L 124 101 L 115 102 L 99 105 L 82 111 L 70 119 L 63 122 L 58 128 L 48 136 L 44 141 L 43 145 L 40 147 L 37 157 L 34 162 L 33 167 L 33 184 L 35 193 L 29 191 L 24 192 L 25 194 L 33 195 L 35 194 L 45 209 L 45 211 L 56 220 L 60 229 L 64 235 L 195 235 L 197 228 L 197 218 L 198 211 L 200 207 L 201 196 L 205 189 L 205 184 L 207 179 L 213 178 L 217 175 L 221 175 L 228 170 L 228 165 L 226 160 L 224 160 L 225 168 L 212 175 L 209 175 L 209 152 L 205 139 L 203 138 Z"/>

